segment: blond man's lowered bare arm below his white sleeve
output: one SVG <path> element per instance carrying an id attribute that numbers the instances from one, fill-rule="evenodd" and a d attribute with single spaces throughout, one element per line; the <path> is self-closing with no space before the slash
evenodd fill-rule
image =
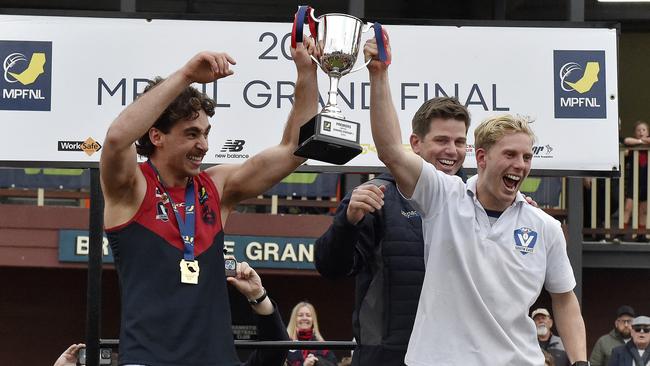
<path id="1" fill-rule="evenodd" d="M 562 338 L 569 361 L 587 361 L 585 322 L 580 313 L 580 304 L 573 291 L 551 293 L 553 314 L 558 333 Z"/>

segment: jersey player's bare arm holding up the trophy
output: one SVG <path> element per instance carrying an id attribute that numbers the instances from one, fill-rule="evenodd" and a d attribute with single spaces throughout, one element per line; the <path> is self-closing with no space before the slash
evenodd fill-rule
<path id="1" fill-rule="evenodd" d="M 300 127 L 318 111 L 316 65 L 309 57 L 317 52 L 313 40 L 291 50 L 298 72 L 295 100 L 280 144 L 252 156 L 243 164 L 219 165 L 207 170 L 221 192 L 222 220 L 241 200 L 255 197 L 293 172 L 305 159 L 293 155 Z"/>

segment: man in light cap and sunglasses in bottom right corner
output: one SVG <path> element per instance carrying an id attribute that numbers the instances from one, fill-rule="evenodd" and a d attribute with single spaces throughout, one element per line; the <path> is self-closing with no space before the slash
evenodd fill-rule
<path id="1" fill-rule="evenodd" d="M 612 350 L 608 366 L 648 366 L 650 352 L 650 317 L 637 316 L 632 320 L 632 341 Z"/>

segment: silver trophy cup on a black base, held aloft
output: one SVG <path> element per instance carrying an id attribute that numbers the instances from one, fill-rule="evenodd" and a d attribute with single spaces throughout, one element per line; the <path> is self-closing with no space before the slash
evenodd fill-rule
<path id="1" fill-rule="evenodd" d="M 337 106 L 338 85 L 343 75 L 365 67 L 362 65 L 353 69 L 361 34 L 371 29 L 372 23 L 364 25 L 360 19 L 346 14 L 325 14 L 313 20 L 318 23 L 316 46 L 320 57 L 312 58 L 329 76 L 330 88 L 323 110 L 300 129 L 298 149 L 294 154 L 345 164 L 362 151 L 359 145 L 360 125 L 347 120 Z"/>

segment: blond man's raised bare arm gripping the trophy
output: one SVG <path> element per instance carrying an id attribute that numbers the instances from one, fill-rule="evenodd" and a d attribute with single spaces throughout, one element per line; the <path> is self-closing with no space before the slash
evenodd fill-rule
<path id="1" fill-rule="evenodd" d="M 384 41 L 390 58 L 390 43 L 384 32 Z M 397 112 L 388 83 L 388 65 L 377 57 L 377 42 L 370 39 L 363 49 L 370 72 L 370 126 L 379 159 L 395 177 L 400 191 L 410 197 L 422 171 L 422 159 L 404 149 Z"/>

